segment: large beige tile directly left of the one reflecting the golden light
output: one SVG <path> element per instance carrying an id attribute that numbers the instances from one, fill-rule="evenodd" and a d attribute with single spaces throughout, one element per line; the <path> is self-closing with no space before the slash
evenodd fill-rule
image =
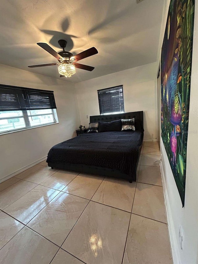
<path id="1" fill-rule="evenodd" d="M 28 223 L 28 227 L 61 246 L 88 202 L 87 199 L 60 192 Z"/>

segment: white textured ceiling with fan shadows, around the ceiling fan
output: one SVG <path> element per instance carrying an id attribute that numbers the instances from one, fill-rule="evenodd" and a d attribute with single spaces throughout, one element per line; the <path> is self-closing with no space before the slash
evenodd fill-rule
<path id="1" fill-rule="evenodd" d="M 98 54 L 79 63 L 95 67 L 92 72 L 76 69 L 77 83 L 157 60 L 164 0 L 1 0 L 0 63 L 59 78 L 57 66 L 28 68 L 56 63 L 39 47 L 46 42 L 61 51 L 77 54 L 96 47 Z"/>

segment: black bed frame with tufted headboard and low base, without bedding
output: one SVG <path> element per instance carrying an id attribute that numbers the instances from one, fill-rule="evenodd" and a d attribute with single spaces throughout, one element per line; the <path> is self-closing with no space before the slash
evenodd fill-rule
<path id="1" fill-rule="evenodd" d="M 111 115 L 94 115 L 94 116 L 90 116 L 90 123 L 98 122 L 98 121 L 110 122 L 118 119 L 131 119 L 131 118 L 135 118 L 135 120 L 139 119 L 142 126 L 142 130 L 144 131 L 143 111 L 111 114 Z M 143 137 L 142 137 L 142 143 L 143 143 Z M 142 144 L 139 148 L 138 160 L 140 157 L 141 148 L 142 148 Z M 64 169 L 68 171 L 78 171 L 88 174 L 103 175 L 106 177 L 129 180 L 130 183 L 132 182 L 129 175 L 124 174 L 118 170 L 112 170 L 104 167 L 89 166 L 84 164 L 52 163 L 52 162 L 48 162 L 48 166 L 52 168 Z M 136 170 L 137 170 L 137 166 L 138 166 L 138 161 L 136 164 Z M 134 175 L 133 179 L 136 179 L 136 175 Z"/>

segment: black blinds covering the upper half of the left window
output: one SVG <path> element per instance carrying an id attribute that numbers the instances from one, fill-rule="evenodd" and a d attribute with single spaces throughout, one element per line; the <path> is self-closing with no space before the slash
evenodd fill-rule
<path id="1" fill-rule="evenodd" d="M 0 111 L 55 108 L 53 91 L 0 84 Z"/>

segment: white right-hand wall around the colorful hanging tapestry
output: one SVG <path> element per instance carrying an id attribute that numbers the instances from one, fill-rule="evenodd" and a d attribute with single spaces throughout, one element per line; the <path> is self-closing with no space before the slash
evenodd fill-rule
<path id="1" fill-rule="evenodd" d="M 163 14 L 165 18 L 167 18 L 169 3 L 169 0 L 165 1 Z M 171 221 L 169 232 L 170 236 L 172 236 L 173 238 L 173 240 L 171 241 L 171 246 L 173 247 L 175 263 L 180 264 L 198 263 L 198 2 L 195 3 L 195 7 L 184 208 L 182 208 L 179 192 L 174 181 L 174 176 L 170 168 L 166 150 L 164 148 L 163 142 L 161 143 L 162 167 L 166 183 L 165 191 L 168 197 L 167 202 L 169 208 L 169 217 Z M 162 20 L 163 23 L 161 30 L 163 31 L 163 34 L 160 40 L 160 49 L 162 46 L 164 31 L 166 27 L 165 18 Z M 160 55 L 158 56 L 158 61 L 159 60 Z M 192 133 L 193 131 L 195 131 L 196 133 Z M 180 225 L 183 231 L 183 250 L 181 250 L 179 246 Z"/>

